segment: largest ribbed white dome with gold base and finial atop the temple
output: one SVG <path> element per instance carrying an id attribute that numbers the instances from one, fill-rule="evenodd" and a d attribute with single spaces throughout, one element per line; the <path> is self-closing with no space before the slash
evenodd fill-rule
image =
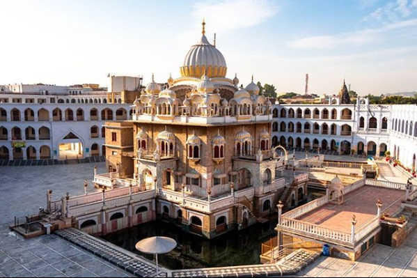
<path id="1" fill-rule="evenodd" d="M 199 78 L 205 70 L 208 77 L 226 77 L 226 60 L 223 54 L 205 37 L 205 22 L 203 21 L 203 36 L 200 41 L 191 47 L 184 63 L 180 68 L 182 77 Z"/>

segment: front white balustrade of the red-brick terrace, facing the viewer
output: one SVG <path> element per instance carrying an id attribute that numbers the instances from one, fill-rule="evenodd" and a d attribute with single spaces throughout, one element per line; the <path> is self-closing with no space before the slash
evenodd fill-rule
<path id="1" fill-rule="evenodd" d="M 313 238 L 322 237 L 330 241 L 338 240 L 339 242 L 343 242 L 348 245 L 353 243 L 352 233 L 328 229 L 316 224 L 310 224 L 295 219 L 283 218 L 281 225 L 278 226 L 284 230 L 290 229 L 302 232 L 306 235 L 310 235 Z"/>

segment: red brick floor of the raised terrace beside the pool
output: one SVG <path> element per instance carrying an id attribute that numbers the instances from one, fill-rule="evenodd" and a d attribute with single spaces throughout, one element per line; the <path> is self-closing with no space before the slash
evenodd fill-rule
<path id="1" fill-rule="evenodd" d="M 388 206 L 388 213 L 395 213 L 401 206 L 404 192 L 383 187 L 364 186 L 345 195 L 343 205 L 331 203 L 299 217 L 299 220 L 320 225 L 337 231 L 352 230 L 352 216 L 356 215 L 356 227 L 377 215 L 377 200 L 381 200 L 381 210 Z"/>

